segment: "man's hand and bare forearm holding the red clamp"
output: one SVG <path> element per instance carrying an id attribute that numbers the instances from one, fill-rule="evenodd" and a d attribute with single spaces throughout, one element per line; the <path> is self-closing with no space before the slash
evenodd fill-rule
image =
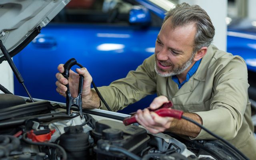
<path id="1" fill-rule="evenodd" d="M 168 99 L 165 96 L 156 97 L 150 104 L 150 109 L 155 110 L 162 106 L 162 104 L 165 102 L 168 102 Z M 184 113 L 183 116 L 186 116 L 198 122 L 199 124 L 202 124 L 201 117 L 195 113 Z M 168 130 L 177 134 L 196 137 L 201 131 L 201 128 L 184 119 L 178 120 L 172 117 L 161 117 L 154 112 L 150 112 L 146 108 L 143 111 L 138 110 L 135 118 L 139 124 L 154 134 Z"/>

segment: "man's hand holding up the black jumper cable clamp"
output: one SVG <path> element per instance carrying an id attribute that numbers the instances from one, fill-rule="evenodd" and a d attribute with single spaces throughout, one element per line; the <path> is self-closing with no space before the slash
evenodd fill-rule
<path id="1" fill-rule="evenodd" d="M 66 97 L 67 87 L 65 85 L 69 84 L 71 96 L 78 96 L 78 84 L 79 84 L 79 74 L 84 76 L 83 90 L 82 90 L 82 104 L 83 108 L 92 109 L 99 108 L 100 99 L 94 90 L 91 90 L 92 76 L 86 68 L 76 68 L 76 72 L 70 70 L 68 80 L 62 75 L 64 72 L 64 64 L 58 66 L 59 73 L 56 74 L 56 91 Z"/>

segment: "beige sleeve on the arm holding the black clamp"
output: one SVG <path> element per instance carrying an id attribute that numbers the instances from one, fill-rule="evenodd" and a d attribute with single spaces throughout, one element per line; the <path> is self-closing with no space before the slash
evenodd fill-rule
<path id="1" fill-rule="evenodd" d="M 156 92 L 156 73 L 154 71 L 154 55 L 150 56 L 125 78 L 112 82 L 109 86 L 99 87 L 102 97 L 113 111 L 137 102 L 141 98 Z M 101 101 L 100 109 L 106 109 Z"/>

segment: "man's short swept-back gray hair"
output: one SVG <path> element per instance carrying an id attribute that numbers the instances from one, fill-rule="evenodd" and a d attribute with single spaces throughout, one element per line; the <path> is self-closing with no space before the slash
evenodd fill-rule
<path id="1" fill-rule="evenodd" d="M 178 4 L 175 8 L 166 12 L 165 15 L 164 22 L 166 22 L 168 18 L 171 18 L 173 28 L 191 23 L 196 24 L 197 32 L 194 40 L 194 54 L 202 47 L 208 47 L 212 43 L 215 28 L 206 11 L 200 6 L 190 6 L 187 3 Z"/>

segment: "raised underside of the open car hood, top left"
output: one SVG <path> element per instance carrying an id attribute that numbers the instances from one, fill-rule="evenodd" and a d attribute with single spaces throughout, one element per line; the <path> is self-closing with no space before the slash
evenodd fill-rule
<path id="1" fill-rule="evenodd" d="M 70 0 L 1 0 L 0 40 L 16 55 L 46 26 Z M 0 63 L 6 60 L 0 50 Z"/>

